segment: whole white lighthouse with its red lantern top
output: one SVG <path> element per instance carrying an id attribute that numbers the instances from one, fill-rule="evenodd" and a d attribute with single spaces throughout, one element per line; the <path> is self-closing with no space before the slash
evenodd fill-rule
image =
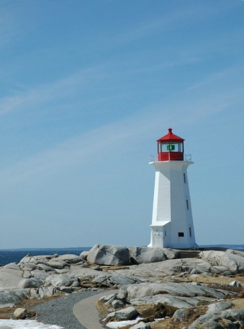
<path id="1" fill-rule="evenodd" d="M 156 169 L 151 242 L 148 247 L 189 249 L 196 246 L 184 140 L 168 129 L 157 140 L 158 154 L 149 164 Z"/>

